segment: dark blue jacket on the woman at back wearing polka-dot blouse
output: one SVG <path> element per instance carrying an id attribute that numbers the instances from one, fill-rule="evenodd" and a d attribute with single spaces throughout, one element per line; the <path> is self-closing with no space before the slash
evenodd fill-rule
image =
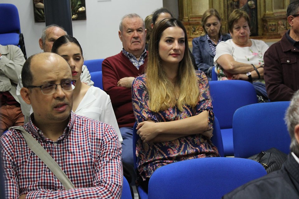
<path id="1" fill-rule="evenodd" d="M 230 39 L 230 35 L 223 34 L 222 41 Z M 207 35 L 194 38 L 192 40 L 192 53 L 198 70 L 203 71 L 207 77 L 212 77 L 212 68 L 214 66 L 214 54 L 207 39 Z"/>

